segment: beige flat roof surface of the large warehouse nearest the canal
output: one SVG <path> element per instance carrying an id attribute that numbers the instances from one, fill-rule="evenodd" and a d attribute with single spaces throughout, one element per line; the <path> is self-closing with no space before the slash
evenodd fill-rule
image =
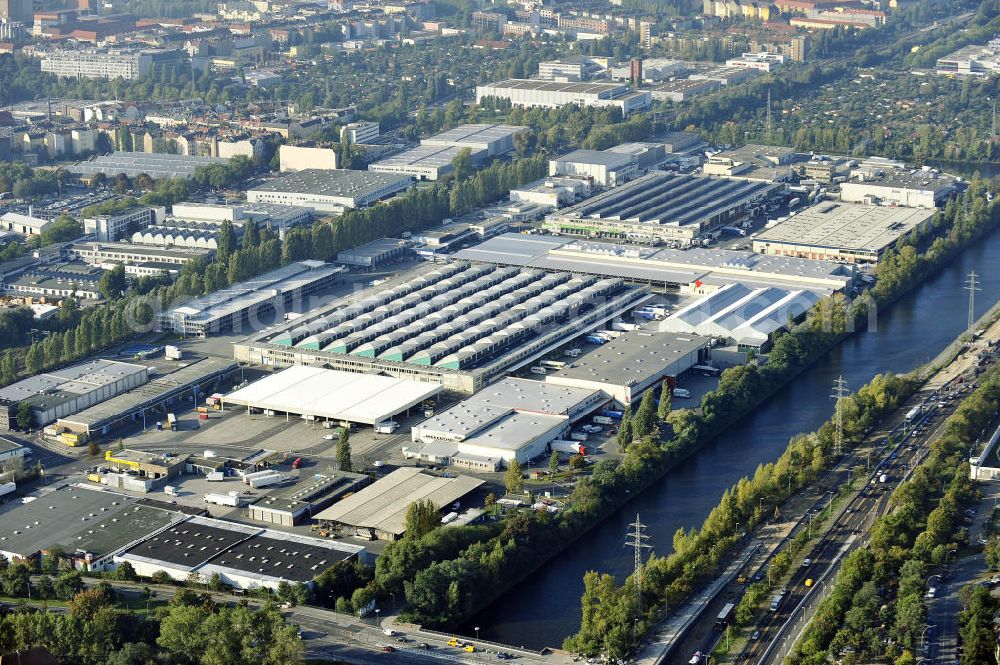
<path id="1" fill-rule="evenodd" d="M 936 213 L 925 208 L 823 201 L 763 231 L 754 242 L 878 252 Z"/>

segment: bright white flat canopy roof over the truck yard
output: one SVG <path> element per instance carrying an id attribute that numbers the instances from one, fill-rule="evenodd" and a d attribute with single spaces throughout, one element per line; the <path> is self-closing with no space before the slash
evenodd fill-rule
<path id="1" fill-rule="evenodd" d="M 439 383 L 295 365 L 230 393 L 224 401 L 374 425 L 439 392 Z"/>

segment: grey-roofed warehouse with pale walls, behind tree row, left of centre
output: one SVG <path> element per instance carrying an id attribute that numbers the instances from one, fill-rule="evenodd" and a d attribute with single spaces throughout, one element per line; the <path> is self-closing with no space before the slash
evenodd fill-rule
<path id="1" fill-rule="evenodd" d="M 249 203 L 279 203 L 340 213 L 389 198 L 413 184 L 408 175 L 305 169 L 247 190 Z"/>

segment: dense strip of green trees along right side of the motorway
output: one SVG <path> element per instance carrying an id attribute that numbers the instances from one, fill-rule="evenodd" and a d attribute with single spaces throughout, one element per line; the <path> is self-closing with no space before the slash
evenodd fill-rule
<path id="1" fill-rule="evenodd" d="M 967 451 L 998 408 L 1000 371 L 992 369 L 948 418 L 910 480 L 893 492 L 891 510 L 873 525 L 869 545 L 845 558 L 830 595 L 793 650 L 792 663 L 824 663 L 844 652 L 853 652 L 859 662 L 914 662 L 926 626 L 928 575 L 968 541 L 963 509 L 975 498 L 975 488 Z M 963 660 L 982 662 L 987 661 Z"/>

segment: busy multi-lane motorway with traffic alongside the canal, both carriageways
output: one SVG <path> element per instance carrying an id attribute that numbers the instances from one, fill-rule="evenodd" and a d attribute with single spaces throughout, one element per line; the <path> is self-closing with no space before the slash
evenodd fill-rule
<path id="1" fill-rule="evenodd" d="M 991 326 L 985 337 L 988 339 L 1000 337 L 1000 323 Z M 792 521 L 786 518 L 784 523 L 766 525 L 755 533 L 747 535 L 744 552 L 757 543 L 763 546 L 742 571 L 747 577 L 764 579 L 771 557 L 784 549 L 798 533 L 809 529 L 809 513 L 815 515 L 829 502 L 829 494 L 816 490 L 847 486 L 853 474 L 865 478 L 867 484 L 860 491 L 848 496 L 829 525 L 823 527 L 824 530 L 810 549 L 800 555 L 801 558 L 796 563 L 804 563 L 805 559 L 809 559 L 810 564 L 793 571 L 787 582 L 788 591 L 780 595 L 777 609 L 773 612 L 765 611 L 758 623 L 748 629 L 749 633 L 759 631 L 759 639 L 747 643 L 739 652 L 739 659 L 776 662 L 780 660 L 778 654 L 783 653 L 785 648 L 794 642 L 794 635 L 807 623 L 807 617 L 811 616 L 814 604 L 825 595 L 825 587 L 829 586 L 828 580 L 832 582 L 843 556 L 864 543 L 869 527 L 878 516 L 885 513 L 892 489 L 908 477 L 913 467 L 919 464 L 927 452 L 929 442 L 940 434 L 946 417 L 960 403 L 960 398 L 956 394 L 951 400 L 943 400 L 943 407 L 938 408 L 946 388 L 962 387 L 971 382 L 976 366 L 976 353 L 979 350 L 979 348 L 971 349 L 931 376 L 916 395 L 900 407 L 893 417 L 886 420 L 883 429 L 872 432 L 845 462 L 818 483 L 821 487 L 813 489 L 811 493 L 802 493 L 780 506 L 782 513 L 800 517 Z M 957 380 L 959 377 L 961 383 Z M 931 399 L 931 395 L 934 394 L 939 395 Z M 917 404 L 925 404 L 927 409 L 918 422 L 907 426 L 903 416 Z M 898 441 L 892 450 L 887 448 L 886 444 L 890 435 Z M 876 472 L 868 470 L 872 468 L 871 465 L 878 467 Z M 872 484 L 872 479 L 877 479 L 883 472 L 888 476 L 887 482 L 876 481 Z M 741 554 L 737 552 L 733 559 L 740 556 Z M 807 580 L 813 581 L 810 587 L 805 586 Z M 670 625 L 668 621 L 657 633 L 653 643 L 643 650 L 640 662 L 667 662 L 668 656 L 670 662 L 683 662 L 687 661 L 692 653 L 710 653 L 723 637 L 721 631 L 713 630 L 717 613 L 726 602 L 738 603 L 743 592 L 744 587 L 741 584 L 731 581 L 722 585 L 713 596 L 699 597 L 695 608 L 698 618 L 694 620 L 686 618 L 686 623 L 680 629 L 676 625 Z M 803 603 L 807 596 L 808 602 Z M 770 599 L 768 604 L 769 602 Z M 675 614 L 684 613 L 684 608 L 681 608 Z M 675 624 L 679 622 L 679 616 L 677 618 Z M 789 624 L 789 619 L 793 618 L 794 622 Z"/>

